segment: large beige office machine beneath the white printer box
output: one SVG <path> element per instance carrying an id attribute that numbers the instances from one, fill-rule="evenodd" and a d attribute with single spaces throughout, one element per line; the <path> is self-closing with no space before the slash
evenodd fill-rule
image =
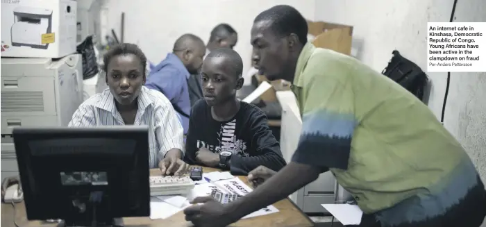
<path id="1" fill-rule="evenodd" d="M 17 176 L 12 128 L 67 126 L 83 101 L 81 54 L 1 58 L 1 178 Z"/>

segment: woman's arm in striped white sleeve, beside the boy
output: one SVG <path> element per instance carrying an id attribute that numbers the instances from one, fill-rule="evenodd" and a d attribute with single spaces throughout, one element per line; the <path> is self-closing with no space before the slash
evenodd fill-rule
<path id="1" fill-rule="evenodd" d="M 160 144 L 160 157 L 167 154 L 184 157 L 184 130 L 179 122 L 176 110 L 165 97 L 156 103 L 156 139 Z M 169 152 L 170 151 L 170 152 Z"/>

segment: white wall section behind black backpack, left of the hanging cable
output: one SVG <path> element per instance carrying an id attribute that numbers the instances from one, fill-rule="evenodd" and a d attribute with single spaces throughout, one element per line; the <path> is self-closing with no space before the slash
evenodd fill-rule
<path id="1" fill-rule="evenodd" d="M 374 69 L 381 72 L 397 49 L 425 71 L 426 23 L 449 22 L 452 5 L 444 0 L 325 0 L 317 1 L 315 16 L 353 26 L 356 57 Z M 433 80 L 429 106 L 440 118 L 446 73 L 428 75 Z"/>

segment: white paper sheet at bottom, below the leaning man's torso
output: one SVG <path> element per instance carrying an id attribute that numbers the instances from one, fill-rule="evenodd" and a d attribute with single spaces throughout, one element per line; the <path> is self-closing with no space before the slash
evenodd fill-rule
<path id="1" fill-rule="evenodd" d="M 359 225 L 363 215 L 358 205 L 351 204 L 321 204 L 331 215 L 346 225 Z"/>

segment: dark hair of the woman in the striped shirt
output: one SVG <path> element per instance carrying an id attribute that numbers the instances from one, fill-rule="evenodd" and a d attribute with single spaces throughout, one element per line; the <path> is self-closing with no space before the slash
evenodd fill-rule
<path id="1" fill-rule="evenodd" d="M 103 72 L 108 71 L 108 63 L 113 57 L 133 54 L 140 59 L 143 68 L 143 74 L 146 76 L 146 57 L 144 52 L 135 44 L 131 43 L 121 43 L 115 45 L 115 47 L 110 47 L 110 50 L 103 56 Z"/>

